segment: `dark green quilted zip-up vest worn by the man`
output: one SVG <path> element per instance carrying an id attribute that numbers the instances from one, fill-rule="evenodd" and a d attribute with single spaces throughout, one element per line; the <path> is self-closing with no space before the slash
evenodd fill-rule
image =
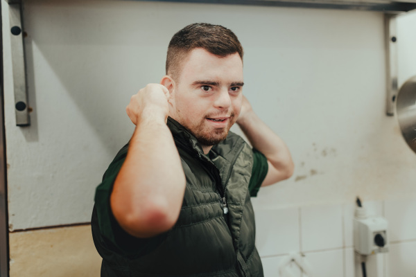
<path id="1" fill-rule="evenodd" d="M 101 276 L 263 276 L 248 191 L 250 146 L 229 132 L 208 158 L 180 124 L 169 118 L 168 127 L 187 177 L 179 219 L 140 258 L 124 258 L 96 245 L 103 256 Z"/>

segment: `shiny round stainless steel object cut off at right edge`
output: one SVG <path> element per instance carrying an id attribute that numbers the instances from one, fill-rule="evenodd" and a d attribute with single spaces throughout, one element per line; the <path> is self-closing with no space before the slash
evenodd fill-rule
<path id="1" fill-rule="evenodd" d="M 416 153 L 416 76 L 407 80 L 399 89 L 396 111 L 401 134 Z"/>

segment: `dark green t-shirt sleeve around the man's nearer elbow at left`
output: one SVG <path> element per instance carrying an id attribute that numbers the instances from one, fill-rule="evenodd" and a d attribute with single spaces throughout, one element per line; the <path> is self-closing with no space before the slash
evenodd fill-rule
<path id="1" fill-rule="evenodd" d="M 101 237 L 105 240 L 110 251 L 123 256 L 137 258 L 148 253 L 164 238 L 164 234 L 153 238 L 136 238 L 125 232 L 112 214 L 110 195 L 117 175 L 127 156 L 128 145 L 125 145 L 116 155 L 105 171 L 102 183 L 96 188 L 94 206 Z"/>

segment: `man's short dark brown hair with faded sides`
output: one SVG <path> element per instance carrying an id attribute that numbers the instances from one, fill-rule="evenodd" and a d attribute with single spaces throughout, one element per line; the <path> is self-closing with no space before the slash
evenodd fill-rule
<path id="1" fill-rule="evenodd" d="M 220 25 L 194 23 L 175 33 L 169 42 L 166 75 L 177 80 L 182 61 L 195 48 L 204 48 L 220 57 L 239 53 L 243 60 L 243 46 L 232 30 Z"/>

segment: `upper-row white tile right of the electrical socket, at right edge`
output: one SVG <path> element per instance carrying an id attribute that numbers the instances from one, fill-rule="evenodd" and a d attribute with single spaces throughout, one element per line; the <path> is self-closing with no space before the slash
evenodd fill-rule
<path id="1" fill-rule="evenodd" d="M 388 220 L 390 242 L 416 239 L 416 200 L 386 200 L 385 218 Z M 416 276 L 416 273 L 414 274 Z"/>

